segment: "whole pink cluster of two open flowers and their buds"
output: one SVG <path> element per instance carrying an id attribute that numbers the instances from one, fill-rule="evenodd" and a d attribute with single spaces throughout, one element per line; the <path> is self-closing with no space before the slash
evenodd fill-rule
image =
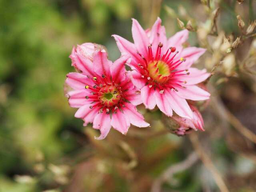
<path id="1" fill-rule="evenodd" d="M 66 83 L 71 107 L 79 108 L 76 118 L 99 129 L 98 139 L 106 137 L 110 128 L 126 134 L 130 124 L 149 126 L 136 110 L 143 103 L 146 108 L 157 106 L 166 116 L 180 124 L 176 134 L 183 135 L 190 128 L 203 129 L 202 116 L 187 100 L 207 100 L 210 94 L 196 84 L 209 77 L 206 70 L 191 65 L 205 52 L 203 48 L 183 48 L 188 30 L 166 38 L 164 26 L 158 18 L 151 29 L 144 30 L 132 20 L 134 43 L 113 35 L 122 56 L 112 63 L 105 48 L 85 43 L 73 48 L 70 58 L 78 72 L 67 74 Z M 131 67 L 126 71 L 125 64 Z M 174 114 L 174 112 L 175 114 Z"/>

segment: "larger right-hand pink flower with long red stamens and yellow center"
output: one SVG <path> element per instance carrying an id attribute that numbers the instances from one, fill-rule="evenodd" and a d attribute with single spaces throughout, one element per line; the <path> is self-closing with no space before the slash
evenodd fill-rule
<path id="1" fill-rule="evenodd" d="M 191 68 L 191 65 L 206 51 L 203 48 L 183 48 L 188 39 L 188 30 L 182 30 L 166 38 L 165 28 L 158 18 L 150 30 L 144 30 L 137 20 L 132 19 L 134 44 L 113 35 L 122 55 L 131 57 L 132 83 L 140 88 L 146 108 L 156 105 L 167 116 L 174 112 L 192 119 L 193 112 L 186 99 L 206 100 L 210 94 L 196 86 L 206 80 L 206 70 Z"/>

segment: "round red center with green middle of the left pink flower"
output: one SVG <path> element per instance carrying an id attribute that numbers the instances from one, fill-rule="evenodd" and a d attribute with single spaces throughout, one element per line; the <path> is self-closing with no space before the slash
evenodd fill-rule
<path id="1" fill-rule="evenodd" d="M 104 86 L 99 91 L 100 102 L 107 106 L 112 107 L 120 101 L 121 95 L 118 89 L 114 85 Z"/>

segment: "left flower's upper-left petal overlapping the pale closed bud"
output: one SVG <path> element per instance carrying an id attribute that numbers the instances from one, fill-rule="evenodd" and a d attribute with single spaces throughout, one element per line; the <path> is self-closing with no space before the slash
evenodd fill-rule
<path id="1" fill-rule="evenodd" d="M 92 62 L 88 58 L 82 56 L 82 54 L 75 53 L 74 51 L 75 48 L 73 48 L 72 54 L 69 56 L 72 60 L 72 66 L 78 68 L 78 70 L 81 70 L 84 75 L 94 76 L 94 71 L 92 70 Z"/>

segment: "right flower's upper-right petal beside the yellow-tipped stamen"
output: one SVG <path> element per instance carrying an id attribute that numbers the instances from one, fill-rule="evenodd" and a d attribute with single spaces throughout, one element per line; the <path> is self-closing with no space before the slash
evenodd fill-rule
<path id="1" fill-rule="evenodd" d="M 179 69 L 188 69 L 190 66 L 198 60 L 198 58 L 204 54 L 206 49 L 197 47 L 184 48 L 181 52 L 181 56 L 186 59 L 184 64 L 180 65 Z"/>

